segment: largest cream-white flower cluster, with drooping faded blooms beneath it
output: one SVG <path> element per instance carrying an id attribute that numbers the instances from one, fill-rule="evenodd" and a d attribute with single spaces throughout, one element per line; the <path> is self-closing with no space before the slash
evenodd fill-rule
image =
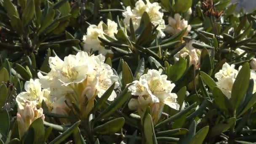
<path id="1" fill-rule="evenodd" d="M 88 115 L 96 96 L 100 98 L 113 83 L 115 88 L 119 85 L 118 76 L 104 61 L 105 56 L 88 56 L 84 51 L 66 56 L 64 61 L 58 56 L 50 57 L 51 71 L 48 75 L 38 73 L 43 88 L 52 91 L 48 107 L 51 107 L 53 112 L 65 114 L 70 110 L 66 103 L 74 102 L 77 107 L 83 109 L 81 112 L 84 116 Z M 115 91 L 112 91 L 108 100 L 113 101 L 116 96 Z"/>

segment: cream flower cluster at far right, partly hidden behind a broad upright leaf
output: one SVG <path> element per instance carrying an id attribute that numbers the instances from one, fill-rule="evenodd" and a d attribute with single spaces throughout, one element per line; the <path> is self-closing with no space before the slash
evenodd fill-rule
<path id="1" fill-rule="evenodd" d="M 239 67 L 239 70 L 242 67 Z M 223 64 L 222 69 L 219 70 L 215 74 L 217 86 L 221 89 L 221 91 L 227 96 L 227 98 L 231 98 L 232 87 L 235 82 L 235 78 L 238 75 L 239 70 L 235 69 L 235 64 L 229 65 L 228 63 Z M 253 93 L 256 92 L 256 72 L 251 71 L 251 79 L 254 81 Z"/>

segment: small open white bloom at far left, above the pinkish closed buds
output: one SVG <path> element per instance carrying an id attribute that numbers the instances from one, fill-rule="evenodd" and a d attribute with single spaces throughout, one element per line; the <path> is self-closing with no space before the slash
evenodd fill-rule
<path id="1" fill-rule="evenodd" d="M 39 79 L 30 79 L 24 85 L 24 92 L 19 93 L 16 97 L 16 102 L 18 106 L 22 109 L 27 101 L 40 106 L 42 101 L 48 102 L 50 91 L 48 89 L 41 88 Z"/>

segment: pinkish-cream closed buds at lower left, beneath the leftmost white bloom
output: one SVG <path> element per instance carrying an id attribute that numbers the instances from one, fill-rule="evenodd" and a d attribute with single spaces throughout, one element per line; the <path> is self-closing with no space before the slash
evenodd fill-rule
<path id="1" fill-rule="evenodd" d="M 43 109 L 37 107 L 30 101 L 26 101 L 24 107 L 18 107 L 17 121 L 19 123 L 19 136 L 23 136 L 29 126 L 38 118 L 45 119 Z"/>

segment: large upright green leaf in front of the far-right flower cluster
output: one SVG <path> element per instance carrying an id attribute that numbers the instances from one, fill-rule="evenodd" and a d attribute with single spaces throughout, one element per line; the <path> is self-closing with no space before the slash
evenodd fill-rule
<path id="1" fill-rule="evenodd" d="M 250 65 L 245 63 L 240 69 L 232 87 L 230 101 L 234 106 L 234 111 L 240 106 L 240 103 L 245 97 L 245 93 L 249 87 L 250 75 Z"/>

